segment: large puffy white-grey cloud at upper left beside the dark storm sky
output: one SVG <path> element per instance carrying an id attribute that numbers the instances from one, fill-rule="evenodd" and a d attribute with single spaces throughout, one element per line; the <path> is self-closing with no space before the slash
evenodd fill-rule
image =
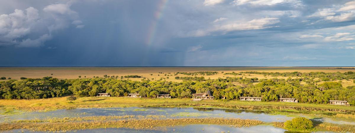
<path id="1" fill-rule="evenodd" d="M 41 15 L 34 7 L 16 9 L 13 13 L 0 15 L 0 46 L 41 46 L 52 38 L 54 31 L 67 28 L 70 23 L 81 22 L 77 20 L 77 12 L 72 11 L 70 6 L 69 2 L 48 5 L 43 8 Z"/>

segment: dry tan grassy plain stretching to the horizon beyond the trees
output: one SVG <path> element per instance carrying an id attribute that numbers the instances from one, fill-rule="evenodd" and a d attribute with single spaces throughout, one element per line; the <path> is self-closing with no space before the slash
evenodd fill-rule
<path id="1" fill-rule="evenodd" d="M 74 78 L 78 78 L 78 76 L 81 76 L 81 78 L 92 78 L 94 76 L 103 77 L 105 74 L 107 74 L 108 76 L 119 76 L 119 77 L 126 76 L 126 75 L 138 75 L 138 76 L 143 76 L 142 78 L 148 78 L 148 79 L 154 78 L 155 80 L 160 78 L 166 78 L 165 79 L 166 81 L 181 82 L 182 80 L 175 79 L 174 73 L 201 72 L 201 71 L 218 72 L 218 74 L 215 75 L 203 76 L 206 79 L 208 78 L 217 79 L 217 78 L 225 78 L 225 77 L 246 77 L 246 78 L 256 77 L 259 79 L 265 79 L 265 78 L 270 79 L 275 77 L 264 76 L 262 74 L 242 74 L 242 75 L 234 76 L 234 75 L 225 75 L 224 73 L 246 72 L 246 71 L 280 72 L 280 73 L 295 72 L 295 71 L 298 72 L 354 71 L 355 72 L 355 68 L 342 67 L 342 69 L 340 69 L 339 67 L 0 67 L 0 77 L 6 77 L 6 78 L 11 77 L 12 79 L 20 79 L 20 77 L 42 78 L 46 76 L 51 76 L 59 79 L 74 79 Z M 167 74 L 167 76 L 164 76 L 165 74 Z M 194 77 L 194 76 L 187 76 L 184 74 L 178 74 L 176 76 Z M 201 77 L 201 75 L 198 75 L 198 77 Z M 142 78 L 129 78 L 129 79 L 133 81 L 140 81 Z M 286 79 L 288 77 L 277 77 L 277 78 Z M 343 80 L 342 82 L 344 87 L 355 85 L 353 81 Z"/>

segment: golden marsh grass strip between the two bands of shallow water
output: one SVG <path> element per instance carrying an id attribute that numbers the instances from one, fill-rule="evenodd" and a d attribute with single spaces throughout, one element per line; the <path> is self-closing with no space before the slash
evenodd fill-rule
<path id="1" fill-rule="evenodd" d="M 120 117 L 120 118 L 119 118 Z M 259 120 L 243 120 L 239 118 L 130 118 L 131 116 L 93 116 L 89 118 L 61 118 L 62 121 L 38 120 L 38 121 L 13 121 L 0 123 L 0 131 L 13 129 L 28 129 L 29 131 L 65 132 L 77 129 L 96 128 L 131 128 L 131 129 L 161 129 L 166 127 L 184 126 L 189 124 L 217 124 L 232 127 L 250 127 L 262 124 Z"/>

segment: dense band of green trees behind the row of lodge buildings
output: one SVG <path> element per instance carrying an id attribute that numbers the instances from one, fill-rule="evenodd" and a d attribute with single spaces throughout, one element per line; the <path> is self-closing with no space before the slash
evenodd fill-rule
<path id="1" fill-rule="evenodd" d="M 62 79 L 44 77 L 37 79 L 0 82 L 0 99 L 42 99 L 67 95 L 80 97 L 110 93 L 111 96 L 127 96 L 138 93 L 142 97 L 155 98 L 158 94 L 170 94 L 173 98 L 191 98 L 193 93 L 210 90 L 215 99 L 225 96 L 228 100 L 240 96 L 262 97 L 263 101 L 279 98 L 296 98 L 299 102 L 325 104 L 329 100 L 348 100 L 355 105 L 355 86 L 344 88 L 339 82 L 301 84 L 295 79 L 251 79 L 226 77 L 206 81 L 142 81 L 115 78 Z M 257 83 L 255 83 L 257 81 Z"/>

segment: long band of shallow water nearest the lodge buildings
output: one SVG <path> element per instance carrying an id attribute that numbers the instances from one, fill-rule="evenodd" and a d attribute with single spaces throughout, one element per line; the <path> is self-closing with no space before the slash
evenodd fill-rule
<path id="1" fill-rule="evenodd" d="M 0 120 L 31 120 L 53 117 L 84 117 L 84 116 L 111 116 L 111 115 L 163 115 L 168 118 L 186 117 L 224 117 L 255 119 L 264 122 L 283 122 L 291 117 L 283 115 L 268 115 L 262 111 L 224 110 L 205 108 L 164 108 L 164 107 L 114 107 L 114 108 L 89 108 L 89 109 L 62 109 L 49 112 L 23 112 L 18 115 L 3 116 Z"/>

